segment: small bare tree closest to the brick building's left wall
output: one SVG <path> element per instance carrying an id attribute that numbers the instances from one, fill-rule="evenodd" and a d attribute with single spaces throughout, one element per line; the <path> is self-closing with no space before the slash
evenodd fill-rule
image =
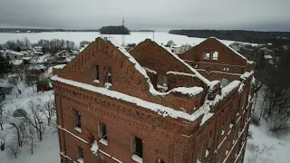
<path id="1" fill-rule="evenodd" d="M 55 105 L 53 100 L 43 101 L 41 111 L 47 119 L 47 124 L 50 126 L 53 116 L 56 114 Z"/>

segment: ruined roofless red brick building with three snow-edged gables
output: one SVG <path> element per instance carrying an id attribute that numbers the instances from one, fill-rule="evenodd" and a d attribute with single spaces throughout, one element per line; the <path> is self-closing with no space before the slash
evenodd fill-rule
<path id="1" fill-rule="evenodd" d="M 216 38 L 179 55 L 95 39 L 53 70 L 62 163 L 243 162 L 251 63 Z"/>

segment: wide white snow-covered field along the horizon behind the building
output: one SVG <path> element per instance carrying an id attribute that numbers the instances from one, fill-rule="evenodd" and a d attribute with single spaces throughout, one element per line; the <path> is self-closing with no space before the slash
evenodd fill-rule
<path id="1" fill-rule="evenodd" d="M 8 40 L 23 39 L 27 37 L 32 43 L 36 43 L 40 39 L 53 40 L 53 39 L 63 39 L 70 40 L 74 43 L 80 43 L 82 41 L 93 41 L 95 38 L 101 36 L 100 33 L 25 33 L 25 34 L 8 34 L 0 33 L 0 43 L 5 43 Z M 122 35 L 111 35 L 119 43 L 122 43 Z M 125 43 L 140 43 L 145 39 L 153 39 L 153 33 L 150 32 L 131 32 L 130 35 L 124 36 Z M 172 40 L 177 45 L 182 44 L 198 44 L 204 41 L 204 38 L 188 37 L 184 35 L 169 34 L 167 32 L 155 32 L 154 41 L 157 43 L 168 43 L 169 40 Z M 223 41 L 227 45 L 234 43 L 234 41 Z M 248 43 L 249 44 L 249 43 Z M 253 44 L 253 43 L 252 43 Z M 256 45 L 255 43 L 253 45 Z"/>

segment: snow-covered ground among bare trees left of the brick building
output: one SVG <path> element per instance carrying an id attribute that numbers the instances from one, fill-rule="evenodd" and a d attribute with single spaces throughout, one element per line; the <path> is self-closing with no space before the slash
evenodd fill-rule
<path id="1" fill-rule="evenodd" d="M 50 70 L 50 69 L 49 69 Z M 23 84 L 24 85 L 24 84 Z M 6 95 L 4 111 L 7 110 L 16 110 L 17 106 L 24 106 L 28 101 L 35 100 L 37 98 L 42 101 L 49 101 L 53 99 L 53 91 L 45 92 L 35 92 L 34 87 L 24 87 L 22 86 L 22 93 L 19 94 L 16 90 L 12 91 L 9 95 Z M 52 125 L 47 126 L 46 119 L 43 118 L 43 126 L 45 127 L 43 133 L 43 140 L 39 141 L 35 139 L 36 145 L 38 146 L 35 149 L 34 154 L 31 155 L 28 145 L 20 149 L 21 153 L 17 158 L 11 158 L 8 154 L 8 144 L 12 143 L 13 133 L 11 126 L 5 124 L 4 130 L 0 129 L 0 135 L 6 135 L 5 138 L 5 150 L 0 151 L 0 163 L 51 163 L 51 162 L 60 162 L 59 157 L 59 144 L 58 144 L 58 135 L 55 124 L 55 118 L 53 118 Z M 0 138 L 0 141 L 3 142 L 3 139 Z M 14 142 L 17 144 L 17 142 Z"/>

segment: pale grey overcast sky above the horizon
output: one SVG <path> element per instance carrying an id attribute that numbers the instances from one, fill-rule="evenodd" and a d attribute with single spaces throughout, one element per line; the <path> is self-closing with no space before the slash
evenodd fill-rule
<path id="1" fill-rule="evenodd" d="M 0 0 L 0 27 L 290 31 L 290 0 Z"/>

